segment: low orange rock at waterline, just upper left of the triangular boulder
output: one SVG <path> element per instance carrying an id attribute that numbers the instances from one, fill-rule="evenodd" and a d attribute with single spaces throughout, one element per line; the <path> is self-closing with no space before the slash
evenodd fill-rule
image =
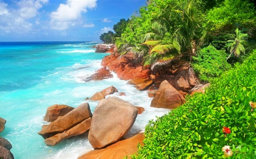
<path id="1" fill-rule="evenodd" d="M 133 79 L 133 80 L 128 81 L 127 84 L 135 85 L 135 87 L 139 91 L 144 91 L 144 90 L 150 88 L 154 84 L 154 82 L 150 79 Z"/>

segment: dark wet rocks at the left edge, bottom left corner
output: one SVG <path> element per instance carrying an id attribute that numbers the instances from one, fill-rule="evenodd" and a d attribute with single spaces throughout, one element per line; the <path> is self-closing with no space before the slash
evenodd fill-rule
<path id="1" fill-rule="evenodd" d="M 0 132 L 5 129 L 6 120 L 0 118 Z M 0 137 L 0 158 L 1 159 L 14 159 L 13 153 L 10 152 L 12 145 L 3 137 Z"/>

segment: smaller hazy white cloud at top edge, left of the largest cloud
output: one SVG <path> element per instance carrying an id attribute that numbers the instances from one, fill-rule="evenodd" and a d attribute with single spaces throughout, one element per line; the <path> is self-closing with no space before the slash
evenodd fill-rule
<path id="1" fill-rule="evenodd" d="M 38 14 L 38 10 L 43 7 L 43 4 L 48 3 L 48 0 L 22 0 L 18 2 L 20 9 L 19 15 L 24 19 L 30 19 Z"/>

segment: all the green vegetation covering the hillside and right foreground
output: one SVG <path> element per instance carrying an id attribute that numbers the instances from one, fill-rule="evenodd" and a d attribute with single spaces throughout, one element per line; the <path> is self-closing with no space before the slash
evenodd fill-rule
<path id="1" fill-rule="evenodd" d="M 114 26 L 119 53 L 132 51 L 152 72 L 182 59 L 212 83 L 150 121 L 132 158 L 256 158 L 255 8 L 253 0 L 148 0 Z"/>

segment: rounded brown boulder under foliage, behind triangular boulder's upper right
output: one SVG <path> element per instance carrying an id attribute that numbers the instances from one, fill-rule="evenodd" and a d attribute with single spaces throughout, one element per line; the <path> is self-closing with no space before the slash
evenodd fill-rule
<path id="1" fill-rule="evenodd" d="M 175 88 L 178 91 L 189 92 L 196 85 L 196 77 L 192 70 L 182 70 L 175 76 Z"/>

